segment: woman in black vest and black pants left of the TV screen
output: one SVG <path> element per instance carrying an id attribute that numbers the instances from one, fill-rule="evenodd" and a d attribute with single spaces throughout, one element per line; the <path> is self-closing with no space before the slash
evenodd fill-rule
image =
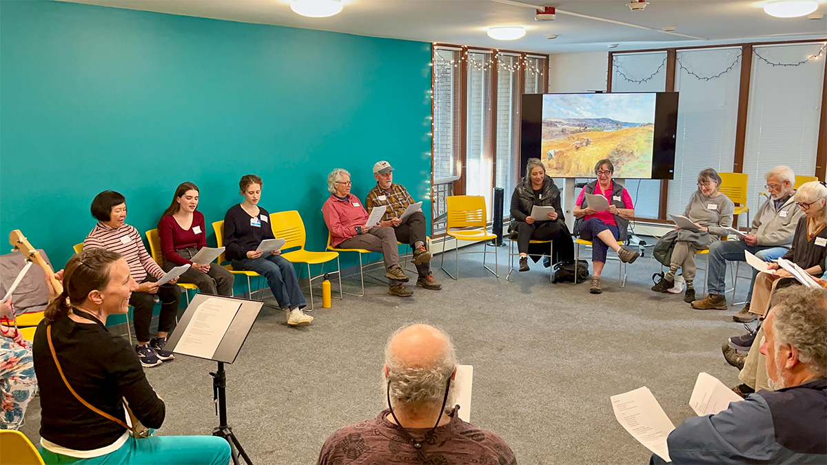
<path id="1" fill-rule="evenodd" d="M 547 244 L 531 244 L 536 241 L 552 241 L 553 261 L 573 261 L 574 242 L 571 232 L 566 227 L 560 202 L 560 189 L 554 180 L 546 175 L 546 167 L 539 158 L 529 158 L 525 166 L 525 178 L 514 188 L 511 194 L 511 224 L 509 233 L 512 240 L 517 240 L 519 252 L 519 271 L 528 271 L 528 256 L 536 263 L 540 256 L 547 253 Z M 534 206 L 553 207 L 546 218 L 533 218 Z M 529 253 L 530 252 L 530 253 Z"/>

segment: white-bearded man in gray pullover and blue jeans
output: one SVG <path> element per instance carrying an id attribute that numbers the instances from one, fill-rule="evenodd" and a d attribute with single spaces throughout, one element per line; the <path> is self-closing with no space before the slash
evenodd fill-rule
<path id="1" fill-rule="evenodd" d="M 792 234 L 796 231 L 798 220 L 804 212 L 798 208 L 792 189 L 796 175 L 787 166 L 776 166 L 764 175 L 768 196 L 758 212 L 746 237 L 739 241 L 713 241 L 710 253 L 706 256 L 706 286 L 709 294 L 702 300 L 692 302 L 693 309 L 727 309 L 724 296 L 727 261 L 744 261 L 745 252 L 750 252 L 763 261 L 773 261 L 790 250 Z M 749 281 L 747 304 L 732 318 L 739 323 L 749 323 L 756 318 L 749 312 L 749 301 L 753 298 L 753 285 L 760 271 L 753 269 L 753 279 Z"/>

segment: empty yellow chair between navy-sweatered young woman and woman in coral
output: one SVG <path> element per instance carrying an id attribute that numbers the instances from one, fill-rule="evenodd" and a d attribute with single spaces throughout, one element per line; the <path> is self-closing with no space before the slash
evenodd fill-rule
<path id="1" fill-rule="evenodd" d="M 336 260 L 336 271 L 331 271 L 339 276 L 339 299 L 342 299 L 342 272 L 339 266 L 338 252 L 309 252 L 304 250 L 304 244 L 307 242 L 307 232 L 304 229 L 304 221 L 296 210 L 288 212 L 270 213 L 270 228 L 273 228 L 273 235 L 280 239 L 284 239 L 284 250 L 299 247 L 299 250 L 291 252 L 282 252 L 284 256 L 291 263 L 306 263 L 308 266 L 308 290 L 310 292 L 310 309 L 314 309 L 313 304 L 313 280 L 324 277 L 324 264 L 328 261 Z M 311 276 L 310 266 L 322 265 L 322 273 L 318 276 Z"/>

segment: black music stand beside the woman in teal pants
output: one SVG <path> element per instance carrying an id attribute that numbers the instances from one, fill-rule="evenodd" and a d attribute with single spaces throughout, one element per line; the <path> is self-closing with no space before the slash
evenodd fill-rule
<path id="1" fill-rule="evenodd" d="M 193 322 L 193 317 L 198 311 L 198 307 L 208 300 L 213 300 L 213 302 L 215 302 L 214 300 L 220 300 L 222 303 L 238 304 L 237 312 L 232 318 L 232 322 L 227 328 L 227 331 L 220 336 L 221 342 L 218 343 L 218 348 L 216 348 L 215 352 L 211 355 L 194 355 L 192 353 L 177 352 L 175 348 L 179 345 L 181 337 L 186 332 L 189 324 Z M 258 300 L 196 294 L 166 343 L 166 350 L 178 353 L 179 355 L 204 358 L 218 362 L 218 370 L 210 372 L 210 376 L 213 376 L 213 400 L 216 404 L 215 413 L 218 415 L 218 426 L 213 429 L 213 436 L 222 437 L 227 440 L 227 443 L 230 443 L 232 463 L 236 465 L 238 465 L 239 455 L 241 455 L 241 458 L 243 458 L 248 465 L 252 465 L 252 462 L 250 457 L 244 452 L 244 448 L 241 447 L 241 443 L 236 435 L 232 433 L 232 428 L 227 424 L 227 372 L 224 371 L 224 363 L 236 361 L 238 352 L 241 351 L 241 346 L 244 345 L 247 335 L 250 334 L 250 330 L 256 322 L 256 317 L 263 304 L 263 302 Z M 202 333 L 209 331 L 209 328 L 205 327 L 203 321 L 199 322 L 199 331 Z"/>

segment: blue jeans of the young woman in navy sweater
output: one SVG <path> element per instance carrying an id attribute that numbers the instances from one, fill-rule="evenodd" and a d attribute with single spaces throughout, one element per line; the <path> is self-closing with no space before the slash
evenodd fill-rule
<path id="1" fill-rule="evenodd" d="M 258 258 L 233 260 L 232 267 L 237 270 L 256 271 L 264 276 L 273 297 L 279 302 L 282 309 L 304 308 L 307 302 L 299 287 L 299 276 L 296 269 L 284 256 L 265 254 Z"/>

